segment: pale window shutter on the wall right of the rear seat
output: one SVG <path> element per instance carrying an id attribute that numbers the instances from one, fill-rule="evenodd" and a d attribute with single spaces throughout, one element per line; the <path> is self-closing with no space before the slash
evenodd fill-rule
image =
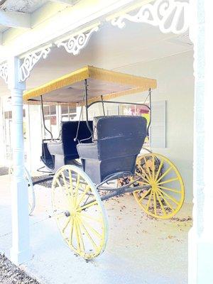
<path id="1" fill-rule="evenodd" d="M 165 148 L 165 112 L 166 102 L 152 102 L 151 112 L 151 148 Z"/>

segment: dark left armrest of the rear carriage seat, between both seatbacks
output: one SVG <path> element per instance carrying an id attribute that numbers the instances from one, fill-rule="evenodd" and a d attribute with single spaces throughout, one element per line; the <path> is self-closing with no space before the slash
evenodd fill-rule
<path id="1" fill-rule="evenodd" d="M 77 144 L 77 153 L 81 159 L 98 159 L 97 142 Z"/>

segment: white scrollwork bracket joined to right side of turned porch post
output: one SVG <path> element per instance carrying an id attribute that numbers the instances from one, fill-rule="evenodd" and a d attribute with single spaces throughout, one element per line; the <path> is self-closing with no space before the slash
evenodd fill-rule
<path id="1" fill-rule="evenodd" d="M 48 57 L 51 51 L 50 49 L 51 46 L 52 45 L 49 45 L 48 47 L 45 47 L 41 50 L 28 53 L 28 55 L 26 55 L 23 58 L 23 62 L 19 70 L 19 81 L 20 82 L 25 82 L 25 80 L 31 75 L 31 70 L 33 70 L 33 67 L 41 58 L 45 59 Z"/>

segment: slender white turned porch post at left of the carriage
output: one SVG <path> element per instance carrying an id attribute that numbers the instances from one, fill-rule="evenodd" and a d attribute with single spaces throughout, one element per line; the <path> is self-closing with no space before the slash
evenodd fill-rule
<path id="1" fill-rule="evenodd" d="M 12 101 L 13 180 L 11 182 L 12 248 L 11 261 L 21 264 L 31 258 L 29 242 L 28 187 L 24 178 L 23 89 L 18 82 L 19 60 L 9 58 L 9 89 Z"/>

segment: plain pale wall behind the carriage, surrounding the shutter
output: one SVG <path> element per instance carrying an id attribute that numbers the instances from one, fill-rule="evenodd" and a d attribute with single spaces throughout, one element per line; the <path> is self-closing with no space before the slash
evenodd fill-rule
<path id="1" fill-rule="evenodd" d="M 167 104 L 166 148 L 154 148 L 153 151 L 165 155 L 178 166 L 185 182 L 185 200 L 192 202 L 193 53 L 120 67 L 116 71 L 151 77 L 158 81 L 158 89 L 153 91 L 152 99 L 165 100 Z M 136 94 L 119 100 L 143 102 L 145 97 L 145 94 Z"/>

